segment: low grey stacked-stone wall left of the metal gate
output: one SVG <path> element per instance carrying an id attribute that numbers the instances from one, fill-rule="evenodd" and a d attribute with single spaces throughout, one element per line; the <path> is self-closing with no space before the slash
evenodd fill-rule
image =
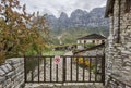
<path id="1" fill-rule="evenodd" d="M 24 59 L 8 59 L 0 66 L 0 88 L 24 88 Z"/>

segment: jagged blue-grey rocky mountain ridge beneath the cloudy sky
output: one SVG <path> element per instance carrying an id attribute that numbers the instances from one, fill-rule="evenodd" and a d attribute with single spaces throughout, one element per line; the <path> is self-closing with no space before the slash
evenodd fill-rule
<path id="1" fill-rule="evenodd" d="M 50 29 L 69 29 L 75 27 L 108 27 L 108 20 L 104 17 L 105 7 L 95 8 L 92 11 L 75 10 L 68 17 L 67 13 L 62 12 L 60 17 L 47 15 Z"/>

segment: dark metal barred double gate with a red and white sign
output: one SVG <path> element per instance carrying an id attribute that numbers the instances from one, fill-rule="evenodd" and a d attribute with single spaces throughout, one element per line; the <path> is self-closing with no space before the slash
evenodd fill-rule
<path id="1" fill-rule="evenodd" d="M 25 56 L 25 83 L 103 83 L 105 56 Z"/>

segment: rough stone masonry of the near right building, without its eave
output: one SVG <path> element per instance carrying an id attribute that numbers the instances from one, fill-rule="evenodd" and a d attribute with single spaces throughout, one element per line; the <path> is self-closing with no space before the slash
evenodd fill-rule
<path id="1" fill-rule="evenodd" d="M 122 80 L 123 84 L 128 83 L 131 85 L 131 11 L 124 13 L 126 0 L 121 0 L 120 42 L 118 43 L 118 3 L 119 0 L 115 0 L 114 14 L 109 15 L 110 34 L 106 48 L 106 79 L 108 80 L 110 75 Z"/>

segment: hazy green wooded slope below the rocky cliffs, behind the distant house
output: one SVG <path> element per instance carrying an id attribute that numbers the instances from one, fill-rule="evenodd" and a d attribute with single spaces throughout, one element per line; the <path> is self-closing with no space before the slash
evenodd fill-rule
<path id="1" fill-rule="evenodd" d="M 90 34 L 100 34 L 108 36 L 108 28 L 107 27 L 87 27 L 87 28 L 71 28 L 66 30 L 50 30 L 50 43 L 55 46 L 59 46 L 60 41 L 58 39 L 61 36 L 62 45 L 74 45 L 76 43 L 76 38 L 87 36 Z"/>

